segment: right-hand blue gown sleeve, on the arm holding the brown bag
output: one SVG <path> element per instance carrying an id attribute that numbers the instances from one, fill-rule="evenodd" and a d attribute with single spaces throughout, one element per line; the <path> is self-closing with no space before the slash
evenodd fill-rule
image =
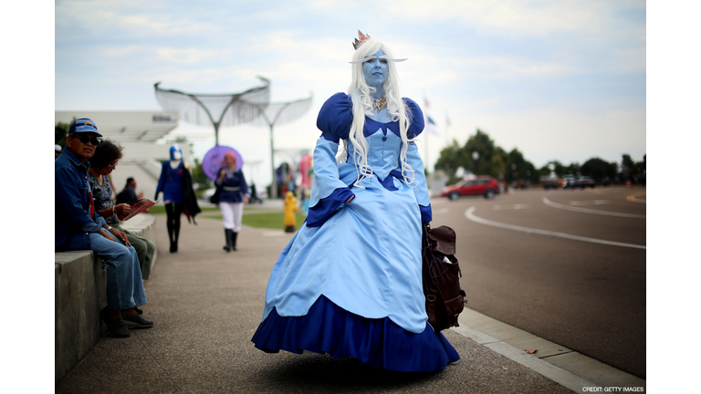
<path id="1" fill-rule="evenodd" d="M 424 112 L 413 99 L 404 98 L 404 104 L 409 109 L 408 112 L 412 115 L 412 123 L 409 125 L 407 137 L 413 139 L 424 131 Z M 419 204 L 421 221 L 431 222 L 433 219 L 433 214 L 431 213 L 431 196 L 428 193 L 428 182 L 426 181 L 426 175 L 424 173 L 424 161 L 422 161 L 421 155 L 419 155 L 419 148 L 413 141 L 409 142 L 409 148 L 406 150 L 406 161 L 409 163 L 409 166 L 412 167 L 413 176 L 417 182 L 416 187 L 413 188 L 413 194 L 416 196 L 416 202 Z"/>

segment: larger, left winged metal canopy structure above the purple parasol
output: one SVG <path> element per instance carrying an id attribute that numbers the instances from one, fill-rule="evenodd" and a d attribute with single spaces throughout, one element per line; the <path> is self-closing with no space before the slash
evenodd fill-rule
<path id="1" fill-rule="evenodd" d="M 161 82 L 153 84 L 153 88 L 156 100 L 163 109 L 177 112 L 178 116 L 187 122 L 202 126 L 211 123 L 214 126 L 214 145 L 216 146 L 219 145 L 219 127 L 253 121 L 267 109 L 270 102 L 270 80 L 258 78 L 263 81 L 263 86 L 250 88 L 243 93 L 185 93 L 180 90 L 159 88 Z M 219 118 L 214 119 L 213 113 L 219 114 Z"/>

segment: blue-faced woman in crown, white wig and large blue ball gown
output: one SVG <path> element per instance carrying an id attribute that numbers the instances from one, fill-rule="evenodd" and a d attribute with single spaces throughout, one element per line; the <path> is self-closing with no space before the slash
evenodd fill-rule
<path id="1" fill-rule="evenodd" d="M 413 142 L 424 115 L 399 94 L 394 62 L 405 59 L 362 34 L 354 47 L 351 94 L 319 111 L 307 221 L 273 267 L 252 340 L 267 352 L 442 370 L 459 356 L 424 306 L 421 235 L 431 203 Z"/>

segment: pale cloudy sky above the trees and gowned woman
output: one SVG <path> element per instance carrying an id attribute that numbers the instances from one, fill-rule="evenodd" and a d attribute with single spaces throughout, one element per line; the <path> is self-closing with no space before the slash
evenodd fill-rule
<path id="1" fill-rule="evenodd" d="M 537 167 L 642 161 L 645 17 L 644 1 L 608 0 L 57 1 L 55 109 L 158 110 L 158 81 L 234 93 L 263 76 L 273 101 L 313 95 L 306 116 L 275 130 L 276 149 L 311 150 L 319 108 L 348 89 L 361 29 L 409 58 L 397 64 L 402 94 L 440 133 L 422 141 L 431 164 L 477 129 Z M 195 156 L 214 146 L 211 127 L 181 122 L 178 134 Z M 266 128 L 225 128 L 220 143 L 269 168 Z"/>

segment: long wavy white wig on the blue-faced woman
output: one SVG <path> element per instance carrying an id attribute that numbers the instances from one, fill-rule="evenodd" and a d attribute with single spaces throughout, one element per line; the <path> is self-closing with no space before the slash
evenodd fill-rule
<path id="1" fill-rule="evenodd" d="M 365 57 L 369 57 L 377 53 L 378 50 L 382 49 L 387 57 L 392 57 L 392 51 L 380 41 L 369 39 L 365 41 L 361 47 L 356 49 L 353 54 L 353 61 L 361 60 Z M 412 185 L 414 183 L 413 170 L 409 166 L 406 160 L 406 150 L 408 148 L 409 139 L 407 138 L 407 130 L 409 130 L 409 124 L 412 122 L 411 114 L 407 114 L 407 108 L 404 105 L 402 96 L 399 93 L 399 76 L 397 75 L 397 67 L 394 66 L 393 61 L 388 61 L 389 72 L 387 73 L 387 79 L 385 79 L 382 89 L 384 91 L 384 97 L 387 99 L 387 109 L 392 116 L 392 121 L 399 121 L 399 134 L 402 138 L 402 148 L 400 150 L 400 163 L 402 165 L 402 176 L 407 184 Z M 365 81 L 365 75 L 362 73 L 362 62 L 353 63 L 352 67 L 352 79 L 351 88 L 349 88 L 349 95 L 351 96 L 353 103 L 353 122 L 351 124 L 351 131 L 349 133 L 349 140 L 353 144 L 353 161 L 356 164 L 356 169 L 358 171 L 358 180 L 355 181 L 355 186 L 361 187 L 359 183 L 372 175 L 372 169 L 368 166 L 368 142 L 365 140 L 365 136 L 362 133 L 363 127 L 365 126 L 365 115 L 372 114 L 372 96 L 371 92 L 375 90 L 368 86 Z M 346 161 L 348 158 L 348 142 L 343 141 L 343 150 L 340 152 L 337 162 Z"/>

